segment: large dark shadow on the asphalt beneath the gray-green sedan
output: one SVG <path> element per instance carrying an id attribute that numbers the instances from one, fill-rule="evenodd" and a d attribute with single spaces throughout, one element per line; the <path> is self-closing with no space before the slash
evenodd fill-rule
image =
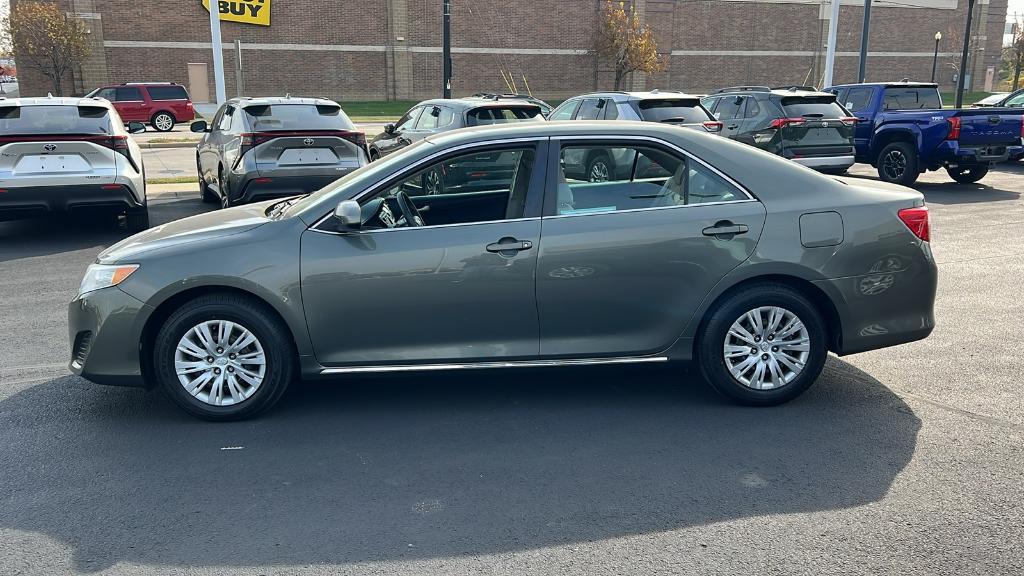
<path id="1" fill-rule="evenodd" d="M 842 360 L 774 409 L 677 370 L 303 383 L 222 424 L 57 378 L 0 401 L 0 528 L 88 572 L 449 558 L 859 506 L 913 454 L 919 418 Z"/>

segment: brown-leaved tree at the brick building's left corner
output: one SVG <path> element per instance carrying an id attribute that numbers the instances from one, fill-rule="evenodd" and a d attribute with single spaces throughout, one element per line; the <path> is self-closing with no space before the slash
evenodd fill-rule
<path id="1" fill-rule="evenodd" d="M 85 25 L 52 2 L 18 2 L 0 20 L 0 37 L 13 47 L 18 66 L 50 79 L 55 95 L 63 94 L 63 78 L 89 55 Z"/>

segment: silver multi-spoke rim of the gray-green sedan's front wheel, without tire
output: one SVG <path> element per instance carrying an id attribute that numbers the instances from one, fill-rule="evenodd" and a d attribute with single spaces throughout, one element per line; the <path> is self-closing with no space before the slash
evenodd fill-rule
<path id="1" fill-rule="evenodd" d="M 263 344 L 245 326 L 202 322 L 186 331 L 174 352 L 174 371 L 189 395 L 210 406 L 232 406 L 252 397 L 266 375 Z"/>

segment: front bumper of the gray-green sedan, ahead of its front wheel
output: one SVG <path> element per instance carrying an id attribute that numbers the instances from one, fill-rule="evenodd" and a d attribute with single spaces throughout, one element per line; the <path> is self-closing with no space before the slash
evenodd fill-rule
<path id="1" fill-rule="evenodd" d="M 114 286 L 68 304 L 69 369 L 97 384 L 147 386 L 139 346 L 153 308 Z"/>

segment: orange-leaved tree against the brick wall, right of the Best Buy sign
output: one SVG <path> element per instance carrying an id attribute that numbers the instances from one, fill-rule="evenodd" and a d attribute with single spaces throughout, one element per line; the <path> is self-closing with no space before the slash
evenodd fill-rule
<path id="1" fill-rule="evenodd" d="M 610 61 L 615 71 L 616 90 L 634 72 L 650 74 L 665 69 L 650 27 L 632 4 L 627 8 L 625 2 L 605 1 L 594 44 L 593 52 Z"/>

